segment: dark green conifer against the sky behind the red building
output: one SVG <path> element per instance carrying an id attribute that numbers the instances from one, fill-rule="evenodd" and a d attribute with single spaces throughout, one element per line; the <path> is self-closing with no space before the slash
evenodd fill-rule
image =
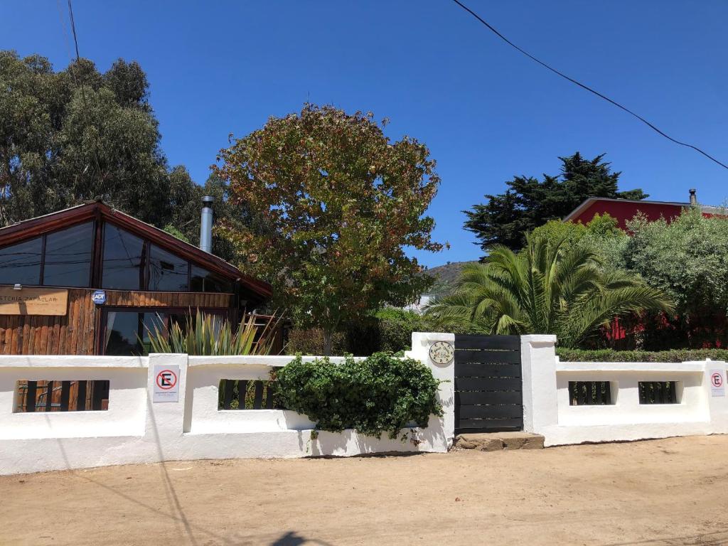
<path id="1" fill-rule="evenodd" d="M 585 159 L 577 151 L 560 157 L 561 174 L 537 178 L 515 176 L 503 194 L 486 195 L 488 202 L 465 211 L 465 229 L 475 233 L 484 252 L 493 245 L 521 248 L 526 232 L 549 220 L 560 220 L 587 197 L 645 199 L 641 189 L 617 191 L 620 173 L 612 173 L 604 154 Z"/>

